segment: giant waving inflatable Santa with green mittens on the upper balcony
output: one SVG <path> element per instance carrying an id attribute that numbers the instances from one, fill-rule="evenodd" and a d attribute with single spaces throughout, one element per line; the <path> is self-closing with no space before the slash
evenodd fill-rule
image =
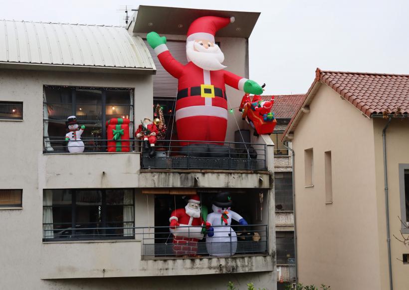
<path id="1" fill-rule="evenodd" d="M 176 100 L 179 140 L 224 142 L 227 128 L 226 84 L 251 94 L 263 91 L 256 82 L 224 70 L 225 66 L 221 64 L 224 55 L 214 42 L 214 35 L 230 22 L 234 22 L 234 17 L 204 16 L 193 21 L 187 35 L 189 63 L 186 65 L 169 52 L 165 36 L 161 37 L 156 32 L 147 35 L 147 41 L 162 66 L 179 80 Z"/>

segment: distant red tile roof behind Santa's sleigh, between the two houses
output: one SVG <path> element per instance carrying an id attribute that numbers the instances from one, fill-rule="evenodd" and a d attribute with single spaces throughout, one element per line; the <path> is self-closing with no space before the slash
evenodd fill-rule
<path id="1" fill-rule="evenodd" d="M 304 100 L 304 94 L 274 95 L 274 104 L 271 112 L 276 119 L 291 119 Z M 263 100 L 270 100 L 271 96 L 261 96 Z"/>

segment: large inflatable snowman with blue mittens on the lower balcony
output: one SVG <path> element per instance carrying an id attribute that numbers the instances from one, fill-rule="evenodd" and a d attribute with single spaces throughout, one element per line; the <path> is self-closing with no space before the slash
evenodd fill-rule
<path id="1" fill-rule="evenodd" d="M 229 257 L 236 253 L 237 235 L 230 227 L 231 219 L 243 226 L 247 225 L 247 222 L 230 207 L 230 194 L 228 192 L 217 194 L 211 206 L 213 212 L 207 215 L 207 222 L 214 228 L 214 235 L 206 237 L 206 248 L 210 256 Z"/>

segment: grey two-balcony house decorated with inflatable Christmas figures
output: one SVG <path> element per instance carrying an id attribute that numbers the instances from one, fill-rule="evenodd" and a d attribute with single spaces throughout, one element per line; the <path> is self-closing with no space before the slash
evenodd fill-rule
<path id="1" fill-rule="evenodd" d="M 146 32 L 165 35 L 182 60 L 189 24 L 206 14 L 235 16 L 216 41 L 228 69 L 248 77 L 256 12 L 141 5 L 127 28 L 0 21 L 1 289 L 219 290 L 229 281 L 276 289 L 269 136 L 233 143 L 234 131 L 249 129 L 235 112 L 224 143 L 231 154 L 222 158 L 187 156 L 173 134 L 149 158 L 133 137 L 154 104 L 172 106 L 177 94 L 176 80 L 149 53 Z M 227 88 L 227 96 L 238 107 L 242 93 Z M 67 150 L 70 115 L 86 126 L 83 153 Z M 111 118 L 129 120 L 130 152 L 107 152 Z M 256 158 L 245 153 L 250 146 Z M 249 223 L 233 226 L 248 236 L 226 242 L 236 254 L 211 257 L 202 241 L 201 258 L 176 256 L 168 226 L 171 212 L 186 205 L 182 196 L 198 194 L 211 208 L 221 191 Z"/>

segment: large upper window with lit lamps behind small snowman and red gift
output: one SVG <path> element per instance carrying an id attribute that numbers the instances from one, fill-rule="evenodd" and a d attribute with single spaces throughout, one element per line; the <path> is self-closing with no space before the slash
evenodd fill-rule
<path id="1" fill-rule="evenodd" d="M 106 121 L 129 119 L 129 136 L 134 136 L 134 92 L 130 88 L 86 88 L 44 86 L 44 152 L 68 152 L 65 142 L 67 117 L 76 116 L 85 125 L 81 139 L 84 152 L 106 151 Z"/>

